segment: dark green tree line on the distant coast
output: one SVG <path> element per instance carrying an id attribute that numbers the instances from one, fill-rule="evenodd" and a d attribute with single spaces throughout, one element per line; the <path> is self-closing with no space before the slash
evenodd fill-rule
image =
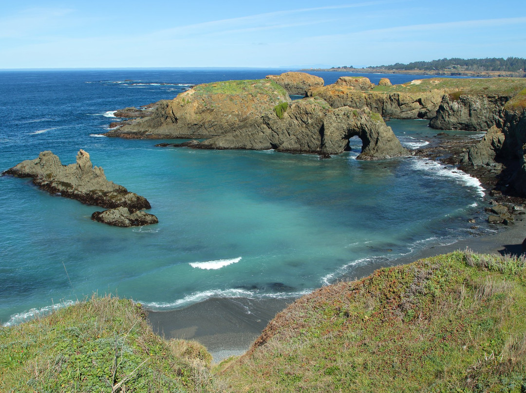
<path id="1" fill-rule="evenodd" d="M 341 67 L 343 68 L 343 67 Z M 352 67 L 349 67 L 352 68 Z M 413 61 L 409 64 L 396 63 L 389 66 L 369 66 L 372 69 L 400 70 L 465 70 L 465 71 L 523 71 L 526 70 L 526 59 L 521 57 L 492 57 L 485 59 L 440 59 L 431 61 Z"/>

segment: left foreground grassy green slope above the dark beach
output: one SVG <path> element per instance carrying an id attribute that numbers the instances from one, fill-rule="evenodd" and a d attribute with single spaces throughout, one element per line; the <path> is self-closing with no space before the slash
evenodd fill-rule
<path id="1" fill-rule="evenodd" d="M 0 327 L 0 391 L 216 391 L 210 354 L 155 335 L 140 305 L 115 297 Z"/>

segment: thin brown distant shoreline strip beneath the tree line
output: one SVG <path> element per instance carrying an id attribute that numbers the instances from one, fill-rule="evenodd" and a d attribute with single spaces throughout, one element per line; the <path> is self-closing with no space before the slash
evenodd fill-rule
<path id="1" fill-rule="evenodd" d="M 304 68 L 303 73 L 312 72 L 340 72 L 350 74 L 404 74 L 404 75 L 436 75 L 436 76 L 467 76 L 484 78 L 525 78 L 524 71 L 458 71 L 458 70 L 400 70 L 387 68 Z"/>

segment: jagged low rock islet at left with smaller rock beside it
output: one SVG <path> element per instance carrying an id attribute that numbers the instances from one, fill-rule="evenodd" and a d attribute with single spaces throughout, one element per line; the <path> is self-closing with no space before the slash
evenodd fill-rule
<path id="1" fill-rule="evenodd" d="M 150 209 L 150 203 L 143 196 L 137 195 L 122 185 L 115 184 L 106 179 L 104 170 L 93 167 L 89 154 L 84 150 L 79 150 L 76 162 L 63 165 L 60 159 L 50 151 L 43 151 L 34 160 L 22 161 L 15 167 L 2 173 L 3 175 L 13 175 L 18 178 L 33 178 L 33 183 L 51 194 L 59 194 L 65 198 L 76 199 L 88 205 L 101 206 L 108 208 L 112 212 L 98 215 L 97 221 L 110 225 L 113 222 L 124 222 L 126 215 L 135 214 L 141 219 L 129 220 L 130 225 L 145 225 L 142 222 L 155 223 L 157 218 L 153 214 L 138 212 L 141 209 Z M 122 209 L 125 208 L 127 213 Z M 123 220 L 115 220 L 116 215 L 124 214 Z M 94 213 L 95 214 L 95 213 Z M 111 217 L 105 221 L 104 217 Z M 135 217 L 134 216 L 134 217 Z M 95 218 L 93 218 L 95 220 Z M 134 224 L 134 222 L 141 222 Z"/>

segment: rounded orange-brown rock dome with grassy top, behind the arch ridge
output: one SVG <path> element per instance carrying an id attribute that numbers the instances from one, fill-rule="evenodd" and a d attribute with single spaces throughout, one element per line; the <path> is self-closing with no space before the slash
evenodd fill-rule
<path id="1" fill-rule="evenodd" d="M 151 116 L 123 122 L 105 135 L 122 138 L 210 138 L 230 132 L 247 119 L 291 102 L 269 79 L 230 80 L 197 85 L 173 100 L 156 103 Z"/>

